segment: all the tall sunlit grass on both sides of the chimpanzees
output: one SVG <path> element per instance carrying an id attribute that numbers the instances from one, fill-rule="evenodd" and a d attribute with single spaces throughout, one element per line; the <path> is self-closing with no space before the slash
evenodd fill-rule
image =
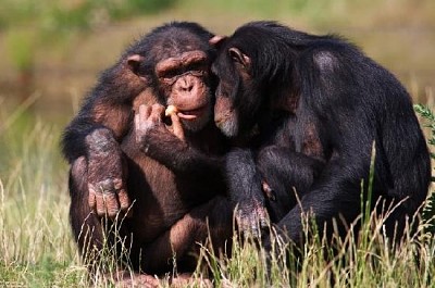
<path id="1" fill-rule="evenodd" d="M 88 281 L 72 240 L 67 166 L 59 154 L 61 128 L 20 108 L 14 113 L 1 110 L 0 123 L 0 287 L 110 287 L 100 278 Z M 201 263 L 210 268 L 216 287 L 435 286 L 435 241 L 424 223 L 418 236 L 408 236 L 393 251 L 382 237 L 382 220 L 362 216 L 366 228 L 358 241 L 351 234 L 344 241 L 336 239 L 338 253 L 331 256 L 324 239 L 311 238 L 298 268 L 275 258 L 268 274 L 263 251 L 241 245 L 238 235 L 232 258 L 220 258 L 204 246 Z M 307 227 L 308 223 L 309 218 Z M 277 245 L 278 254 L 286 249 Z"/>

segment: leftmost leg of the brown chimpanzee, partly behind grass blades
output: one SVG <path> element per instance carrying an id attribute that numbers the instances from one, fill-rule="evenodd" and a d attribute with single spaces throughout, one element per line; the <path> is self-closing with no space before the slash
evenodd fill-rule
<path id="1" fill-rule="evenodd" d="M 78 158 L 72 164 L 70 171 L 70 221 L 74 239 L 78 245 L 84 263 L 90 272 L 95 272 L 101 264 L 101 251 L 114 251 L 111 243 L 123 236 L 114 222 L 107 217 L 98 216 L 88 202 L 88 174 L 87 162 L 84 156 Z M 105 240 L 104 240 L 105 238 Z M 116 241 L 119 242 L 119 241 Z M 115 251 L 121 251 L 116 249 Z M 117 252 L 116 258 L 120 256 Z"/>

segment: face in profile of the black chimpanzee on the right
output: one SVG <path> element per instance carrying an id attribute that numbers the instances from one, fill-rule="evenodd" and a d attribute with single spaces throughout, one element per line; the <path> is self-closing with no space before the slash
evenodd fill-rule
<path id="1" fill-rule="evenodd" d="M 223 48 L 212 65 L 212 72 L 219 78 L 214 122 L 227 137 L 236 137 L 248 128 L 257 110 L 250 104 L 249 68 L 250 59 L 234 47 Z"/>

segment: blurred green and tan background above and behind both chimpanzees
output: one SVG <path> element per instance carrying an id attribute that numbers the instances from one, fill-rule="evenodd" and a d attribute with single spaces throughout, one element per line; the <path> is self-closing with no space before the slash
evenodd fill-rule
<path id="1" fill-rule="evenodd" d="M 336 33 L 396 74 L 415 102 L 433 102 L 434 0 L 0 0 L 0 103 L 14 111 L 27 101 L 62 127 L 100 71 L 173 20 L 216 34 L 253 20 Z"/>

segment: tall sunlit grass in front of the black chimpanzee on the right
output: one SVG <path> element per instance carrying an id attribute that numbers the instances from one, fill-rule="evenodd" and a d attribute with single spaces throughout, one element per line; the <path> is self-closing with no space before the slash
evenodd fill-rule
<path id="1" fill-rule="evenodd" d="M 349 234 L 344 241 L 336 239 L 334 249 L 325 239 L 312 237 L 300 251 L 302 260 L 291 263 L 274 258 L 270 273 L 264 252 L 237 240 L 231 259 L 220 259 L 207 248 L 202 258 L 213 267 L 217 287 L 433 287 L 432 236 L 420 230 L 391 249 L 382 229 L 375 229 L 382 223 L 372 215 L 366 223 L 372 229 L 358 237 Z M 287 248 L 278 245 L 278 254 Z"/>

